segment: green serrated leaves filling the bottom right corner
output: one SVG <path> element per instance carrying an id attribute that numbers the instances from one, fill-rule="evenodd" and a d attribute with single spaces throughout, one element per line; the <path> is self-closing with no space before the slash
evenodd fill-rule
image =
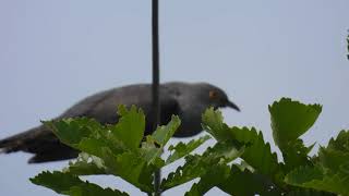
<path id="1" fill-rule="evenodd" d="M 300 167 L 286 176 L 292 185 L 320 191 L 349 194 L 349 132 L 341 131 L 327 147 L 321 147 L 316 166 Z"/>

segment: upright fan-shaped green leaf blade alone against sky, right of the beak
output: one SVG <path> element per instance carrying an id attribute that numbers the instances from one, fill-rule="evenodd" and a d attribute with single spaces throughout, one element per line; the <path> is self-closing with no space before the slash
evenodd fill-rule
<path id="1" fill-rule="evenodd" d="M 275 101 L 269 106 L 275 143 L 282 150 L 315 123 L 321 111 L 320 105 L 303 105 L 289 98 Z"/>

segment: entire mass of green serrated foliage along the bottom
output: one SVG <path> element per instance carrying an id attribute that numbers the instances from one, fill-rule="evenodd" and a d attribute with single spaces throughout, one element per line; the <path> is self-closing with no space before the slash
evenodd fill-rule
<path id="1" fill-rule="evenodd" d="M 165 146 L 180 126 L 178 117 L 145 137 L 145 118 L 135 107 L 119 107 L 116 125 L 101 125 L 86 118 L 49 121 L 45 124 L 62 143 L 82 152 L 62 172 L 43 172 L 31 181 L 64 195 L 127 195 L 80 179 L 112 174 L 154 194 L 154 172 L 184 158 L 183 166 L 161 180 L 161 192 L 198 180 L 185 195 L 204 195 L 213 187 L 230 195 L 349 195 L 349 132 L 341 131 L 313 157 L 309 152 L 314 144 L 305 146 L 300 138 L 321 111 L 320 105 L 288 98 L 269 106 L 274 140 L 284 161 L 272 151 L 262 132 L 229 126 L 221 112 L 213 108 L 202 119 L 216 144 L 197 155 L 193 150 L 210 136 L 180 142 L 169 146 L 171 154 L 165 159 Z"/>

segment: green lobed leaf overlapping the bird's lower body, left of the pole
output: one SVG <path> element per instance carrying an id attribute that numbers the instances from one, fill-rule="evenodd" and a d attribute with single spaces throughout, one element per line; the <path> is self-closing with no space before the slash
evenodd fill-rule
<path id="1" fill-rule="evenodd" d="M 81 149 L 84 147 L 81 143 L 89 143 L 92 146 L 108 146 L 118 152 L 121 152 L 122 148 L 134 150 L 140 147 L 143 138 L 145 117 L 142 110 L 137 111 L 134 106 L 128 110 L 121 105 L 118 111 L 120 120 L 116 125 L 103 126 L 96 120 L 87 118 L 63 119 L 44 123 L 62 143 L 79 150 L 84 150 Z"/>

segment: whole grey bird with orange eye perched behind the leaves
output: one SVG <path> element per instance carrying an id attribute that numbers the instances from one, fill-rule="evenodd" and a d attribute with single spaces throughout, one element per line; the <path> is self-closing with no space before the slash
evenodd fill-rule
<path id="1" fill-rule="evenodd" d="M 189 137 L 202 132 L 201 115 L 208 107 L 230 107 L 240 111 L 224 90 L 207 83 L 165 83 L 159 87 L 159 95 L 160 124 L 168 123 L 172 114 L 179 115 L 182 121 L 174 137 Z M 95 94 L 81 100 L 56 120 L 88 117 L 103 124 L 115 124 L 118 122 L 118 105 L 135 105 L 142 108 L 146 117 L 145 135 L 152 133 L 154 117 L 151 84 L 130 85 Z M 0 151 L 34 154 L 28 160 L 29 163 L 71 159 L 79 154 L 77 150 L 60 143 L 44 125 L 0 140 Z"/>

